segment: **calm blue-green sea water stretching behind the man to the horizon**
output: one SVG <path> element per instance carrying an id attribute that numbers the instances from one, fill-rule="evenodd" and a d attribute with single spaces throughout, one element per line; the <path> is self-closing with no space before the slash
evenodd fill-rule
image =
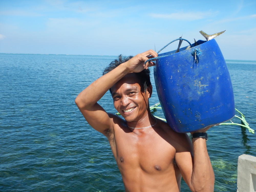
<path id="1" fill-rule="evenodd" d="M 0 54 L 0 191 L 124 191 L 108 140 L 74 103 L 115 58 Z M 236 108 L 256 131 L 256 61 L 227 65 Z M 150 103 L 157 102 L 154 88 Z M 109 92 L 99 103 L 115 112 Z M 256 134 L 232 125 L 208 134 L 215 191 L 236 191 L 238 156 L 256 156 Z M 189 191 L 184 182 L 182 191 Z"/>

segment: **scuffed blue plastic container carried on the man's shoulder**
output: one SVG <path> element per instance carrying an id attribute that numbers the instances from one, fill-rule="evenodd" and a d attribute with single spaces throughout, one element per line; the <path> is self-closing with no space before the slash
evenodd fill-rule
<path id="1" fill-rule="evenodd" d="M 216 125 L 235 115 L 233 88 L 226 62 L 215 41 L 156 60 L 156 90 L 166 121 L 176 132 L 187 133 Z M 194 46 L 194 44 L 193 44 Z M 200 55 L 194 54 L 197 49 Z M 175 53 L 175 54 L 174 54 Z"/>

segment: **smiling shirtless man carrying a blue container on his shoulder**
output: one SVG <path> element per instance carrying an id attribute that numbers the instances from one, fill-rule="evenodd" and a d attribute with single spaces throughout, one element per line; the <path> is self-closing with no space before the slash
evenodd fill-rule
<path id="1" fill-rule="evenodd" d="M 120 61 L 84 89 L 75 102 L 87 122 L 108 138 L 125 191 L 176 192 L 180 191 L 181 177 L 191 191 L 214 191 L 206 139 L 198 137 L 191 142 L 187 134 L 174 132 L 150 112 L 152 86 L 141 71 L 154 65 L 144 65 L 152 57 L 157 53 L 148 50 Z M 115 109 L 125 120 L 97 103 L 109 89 Z"/>

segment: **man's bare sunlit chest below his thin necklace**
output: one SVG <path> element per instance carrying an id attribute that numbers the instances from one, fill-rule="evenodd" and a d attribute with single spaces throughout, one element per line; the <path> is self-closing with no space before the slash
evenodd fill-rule
<path id="1" fill-rule="evenodd" d="M 145 172 L 159 172 L 173 167 L 175 148 L 158 134 L 118 132 L 114 136 L 112 149 L 120 171 L 142 169 Z"/>

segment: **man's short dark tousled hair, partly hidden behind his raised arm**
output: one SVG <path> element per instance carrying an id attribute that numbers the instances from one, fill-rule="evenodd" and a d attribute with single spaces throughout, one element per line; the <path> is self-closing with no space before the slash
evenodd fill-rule
<path id="1" fill-rule="evenodd" d="M 118 59 L 115 59 L 112 61 L 108 67 L 105 68 L 103 71 L 103 75 L 107 74 L 108 72 L 112 71 L 114 68 L 119 66 L 121 63 L 124 63 L 128 60 L 133 58 L 133 56 L 124 57 L 122 55 L 119 55 Z M 139 73 L 135 73 L 137 78 L 139 79 L 140 85 L 143 88 L 144 92 L 147 90 L 147 88 L 151 85 L 150 82 L 150 70 L 144 69 Z M 109 89 L 110 93 L 112 94 L 111 88 Z"/>

